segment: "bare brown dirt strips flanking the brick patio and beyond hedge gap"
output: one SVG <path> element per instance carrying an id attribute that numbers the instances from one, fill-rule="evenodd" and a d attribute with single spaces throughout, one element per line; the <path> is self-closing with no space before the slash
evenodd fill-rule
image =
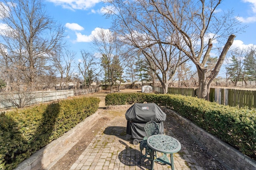
<path id="1" fill-rule="evenodd" d="M 137 92 L 139 90 L 122 90 L 122 92 Z M 106 127 L 109 120 L 113 118 L 112 111 L 106 111 L 105 108 L 105 96 L 108 94 L 107 91 L 102 91 L 99 93 L 90 94 L 88 96 L 95 96 L 100 98 L 100 106 L 99 109 L 102 109 L 102 113 L 104 116 L 98 119 L 97 123 L 88 128 L 88 133 L 84 134 L 84 137 L 69 150 L 67 154 L 65 154 L 50 170 L 69 170 L 72 164 L 77 160 L 80 154 L 86 149 L 86 147 L 90 144 L 92 139 L 94 139 L 95 135 L 102 129 L 102 127 Z M 105 111 L 104 111 L 105 110 Z M 120 114 L 124 114 L 125 111 L 120 111 Z M 201 166 L 204 170 L 226 170 L 223 162 L 218 162 L 218 160 L 214 159 L 212 155 L 208 152 L 208 150 L 202 146 L 198 141 L 194 140 L 195 138 L 188 134 L 178 123 L 173 121 L 170 115 L 167 115 L 166 121 L 164 122 L 164 130 L 171 130 L 176 138 L 182 144 L 182 147 L 185 147 L 186 150 L 193 156 L 193 158 L 198 162 L 199 166 Z M 92 133 L 94 132 L 94 133 Z"/>

